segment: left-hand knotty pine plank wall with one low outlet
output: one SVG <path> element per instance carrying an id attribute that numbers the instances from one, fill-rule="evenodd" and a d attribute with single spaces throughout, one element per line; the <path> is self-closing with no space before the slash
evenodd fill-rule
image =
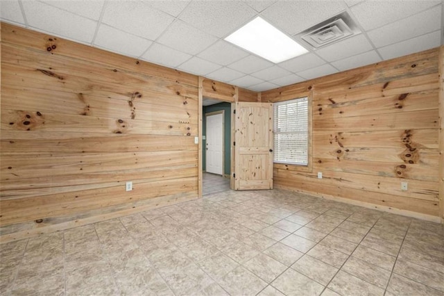
<path id="1" fill-rule="evenodd" d="M 1 24 L 0 234 L 198 197 L 198 110 L 197 76 Z"/>

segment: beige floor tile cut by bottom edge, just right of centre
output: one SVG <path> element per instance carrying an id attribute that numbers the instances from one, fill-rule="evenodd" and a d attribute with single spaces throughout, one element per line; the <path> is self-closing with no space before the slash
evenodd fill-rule
<path id="1" fill-rule="evenodd" d="M 221 287 L 230 295 L 256 295 L 267 283 L 243 266 L 228 272 L 220 282 Z"/>

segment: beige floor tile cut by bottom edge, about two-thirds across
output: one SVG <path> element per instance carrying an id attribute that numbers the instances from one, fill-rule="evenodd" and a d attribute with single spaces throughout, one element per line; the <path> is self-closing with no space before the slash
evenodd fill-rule
<path id="1" fill-rule="evenodd" d="M 285 295 L 321 295 L 324 286 L 316 281 L 305 277 L 296 270 L 289 268 L 275 279 L 271 285 Z"/>

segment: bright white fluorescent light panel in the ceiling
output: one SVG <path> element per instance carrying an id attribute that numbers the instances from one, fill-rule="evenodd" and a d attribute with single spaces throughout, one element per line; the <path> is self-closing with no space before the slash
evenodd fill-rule
<path id="1" fill-rule="evenodd" d="M 261 17 L 256 17 L 225 40 L 273 63 L 280 63 L 308 52 Z"/>

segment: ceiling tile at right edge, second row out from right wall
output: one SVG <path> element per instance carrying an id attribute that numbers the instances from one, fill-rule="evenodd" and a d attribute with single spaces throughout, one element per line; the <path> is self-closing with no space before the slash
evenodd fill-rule
<path id="1" fill-rule="evenodd" d="M 382 26 L 368 32 L 375 47 L 384 47 L 413 37 L 424 35 L 441 27 L 441 6 L 436 6 L 417 15 Z"/>

